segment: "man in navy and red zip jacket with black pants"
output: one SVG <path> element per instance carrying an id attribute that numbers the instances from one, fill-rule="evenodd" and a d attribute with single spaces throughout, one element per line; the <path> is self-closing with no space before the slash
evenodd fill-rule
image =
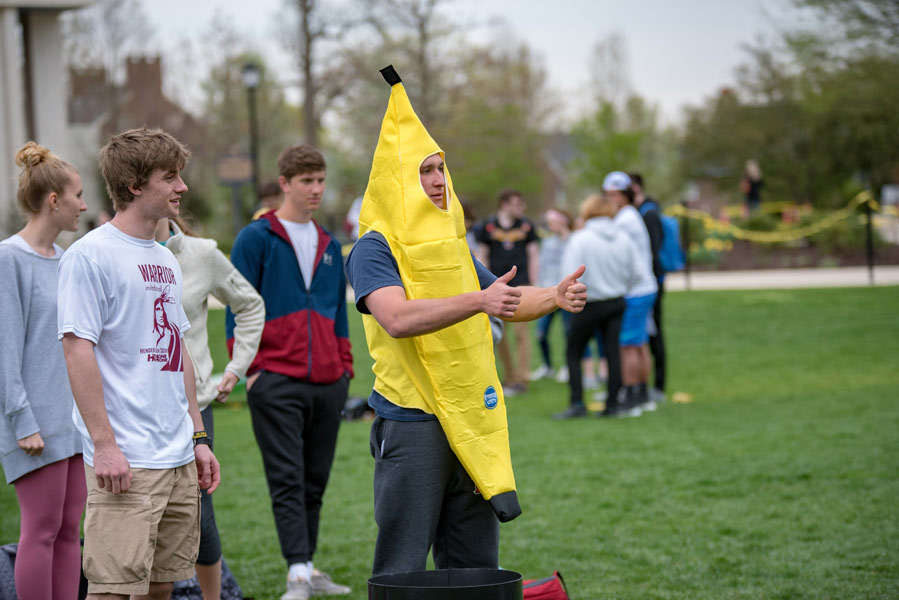
<path id="1" fill-rule="evenodd" d="M 241 230 L 231 261 L 265 301 L 247 403 L 288 565 L 284 597 L 302 599 L 350 592 L 315 569 L 312 558 L 353 357 L 340 245 L 312 219 L 325 189 L 325 160 L 311 146 L 294 146 L 281 153 L 278 170 L 281 208 Z M 230 351 L 230 310 L 226 330 Z"/>

